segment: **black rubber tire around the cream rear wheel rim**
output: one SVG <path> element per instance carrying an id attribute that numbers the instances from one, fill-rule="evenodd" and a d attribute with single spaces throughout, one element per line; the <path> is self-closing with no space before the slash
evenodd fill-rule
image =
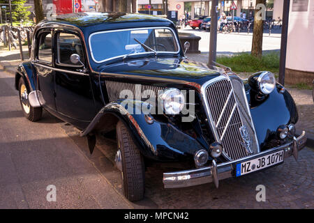
<path id="1" fill-rule="evenodd" d="M 27 88 L 27 84 L 25 84 L 24 79 L 21 77 L 19 81 L 19 97 L 20 97 L 20 103 L 21 103 L 23 114 L 27 119 L 29 119 L 29 121 L 38 121 L 43 114 L 43 107 L 32 107 L 29 104 L 28 98 L 27 98 L 28 106 L 26 107 L 29 107 L 29 109 L 26 108 L 22 102 L 22 90 L 23 89 L 27 91 L 27 94 L 29 94 L 29 89 Z"/>

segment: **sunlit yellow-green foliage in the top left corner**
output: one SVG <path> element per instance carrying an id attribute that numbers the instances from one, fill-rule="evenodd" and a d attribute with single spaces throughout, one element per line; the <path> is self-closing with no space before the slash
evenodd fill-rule
<path id="1" fill-rule="evenodd" d="M 26 2 L 27 2 L 26 0 L 12 0 L 11 1 L 13 21 L 29 20 L 29 15 L 31 15 L 29 8 L 31 8 L 31 6 L 24 6 Z M 9 3 L 9 1 L 0 0 L 0 3 Z M 2 10 L 2 12 L 4 13 L 4 10 Z M 8 20 L 10 20 L 10 10 L 9 10 L 8 5 L 6 6 L 6 17 L 8 18 Z"/>

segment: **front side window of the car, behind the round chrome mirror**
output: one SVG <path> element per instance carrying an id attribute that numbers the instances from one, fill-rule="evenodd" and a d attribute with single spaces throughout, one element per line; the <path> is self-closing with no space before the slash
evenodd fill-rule
<path id="1" fill-rule="evenodd" d="M 80 38 L 71 33 L 58 33 L 57 35 L 57 63 L 61 65 L 80 66 L 80 64 L 71 63 L 70 56 L 72 54 L 79 54 L 82 63 L 84 63 L 83 47 Z"/>

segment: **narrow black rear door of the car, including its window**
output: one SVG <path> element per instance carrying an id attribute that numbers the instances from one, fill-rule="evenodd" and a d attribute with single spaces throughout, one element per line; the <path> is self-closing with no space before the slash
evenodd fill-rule
<path id="1" fill-rule="evenodd" d="M 33 63 L 38 75 L 38 90 L 43 95 L 40 102 L 43 107 L 56 110 L 54 100 L 54 69 L 52 66 L 52 31 L 43 29 L 36 35 L 35 61 Z"/>

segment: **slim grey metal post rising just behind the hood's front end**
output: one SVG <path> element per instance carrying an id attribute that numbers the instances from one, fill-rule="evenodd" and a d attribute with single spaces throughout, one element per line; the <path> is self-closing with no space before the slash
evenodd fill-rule
<path id="1" fill-rule="evenodd" d="M 217 50 L 217 13 L 218 0 L 211 1 L 211 32 L 209 39 L 209 59 L 207 66 L 212 68 L 214 66 L 213 61 L 216 62 L 216 50 Z"/>

